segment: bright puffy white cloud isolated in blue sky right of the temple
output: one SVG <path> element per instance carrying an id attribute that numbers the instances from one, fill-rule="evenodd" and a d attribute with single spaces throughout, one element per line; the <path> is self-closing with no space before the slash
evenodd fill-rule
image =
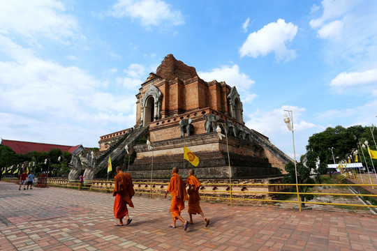
<path id="1" fill-rule="evenodd" d="M 274 52 L 278 61 L 290 61 L 296 57 L 295 50 L 288 49 L 296 33 L 296 25 L 291 22 L 287 24 L 285 20 L 279 19 L 277 22 L 265 25 L 259 31 L 250 33 L 239 54 L 242 57 L 257 58 Z"/>

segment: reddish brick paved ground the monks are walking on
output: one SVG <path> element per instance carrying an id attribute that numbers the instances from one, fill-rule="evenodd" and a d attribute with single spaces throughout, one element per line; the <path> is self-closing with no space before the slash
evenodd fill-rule
<path id="1" fill-rule="evenodd" d="M 134 197 L 124 227 L 114 227 L 113 201 L 101 192 L 19 191 L 0 182 L 0 250 L 377 250 L 374 215 L 202 202 L 211 224 L 194 215 L 184 232 L 168 227 L 169 199 Z"/>

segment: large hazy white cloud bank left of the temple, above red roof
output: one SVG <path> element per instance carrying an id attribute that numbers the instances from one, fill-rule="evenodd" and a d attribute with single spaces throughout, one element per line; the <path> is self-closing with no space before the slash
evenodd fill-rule
<path id="1" fill-rule="evenodd" d="M 106 89 L 107 82 L 77 67 L 39 59 L 0 35 L 0 131 L 8 139 L 59 144 L 96 143 L 100 135 L 133 126 L 135 96 Z M 134 116 L 133 116 L 134 118 Z M 125 125 L 113 128 L 113 125 Z M 15 133 L 14 128 L 17 128 Z M 105 128 L 105 129 L 102 129 Z M 63 133 L 64 132 L 64 133 Z M 66 137 L 69 135 L 69 137 Z M 68 142 L 75 139 L 77 142 Z"/>

